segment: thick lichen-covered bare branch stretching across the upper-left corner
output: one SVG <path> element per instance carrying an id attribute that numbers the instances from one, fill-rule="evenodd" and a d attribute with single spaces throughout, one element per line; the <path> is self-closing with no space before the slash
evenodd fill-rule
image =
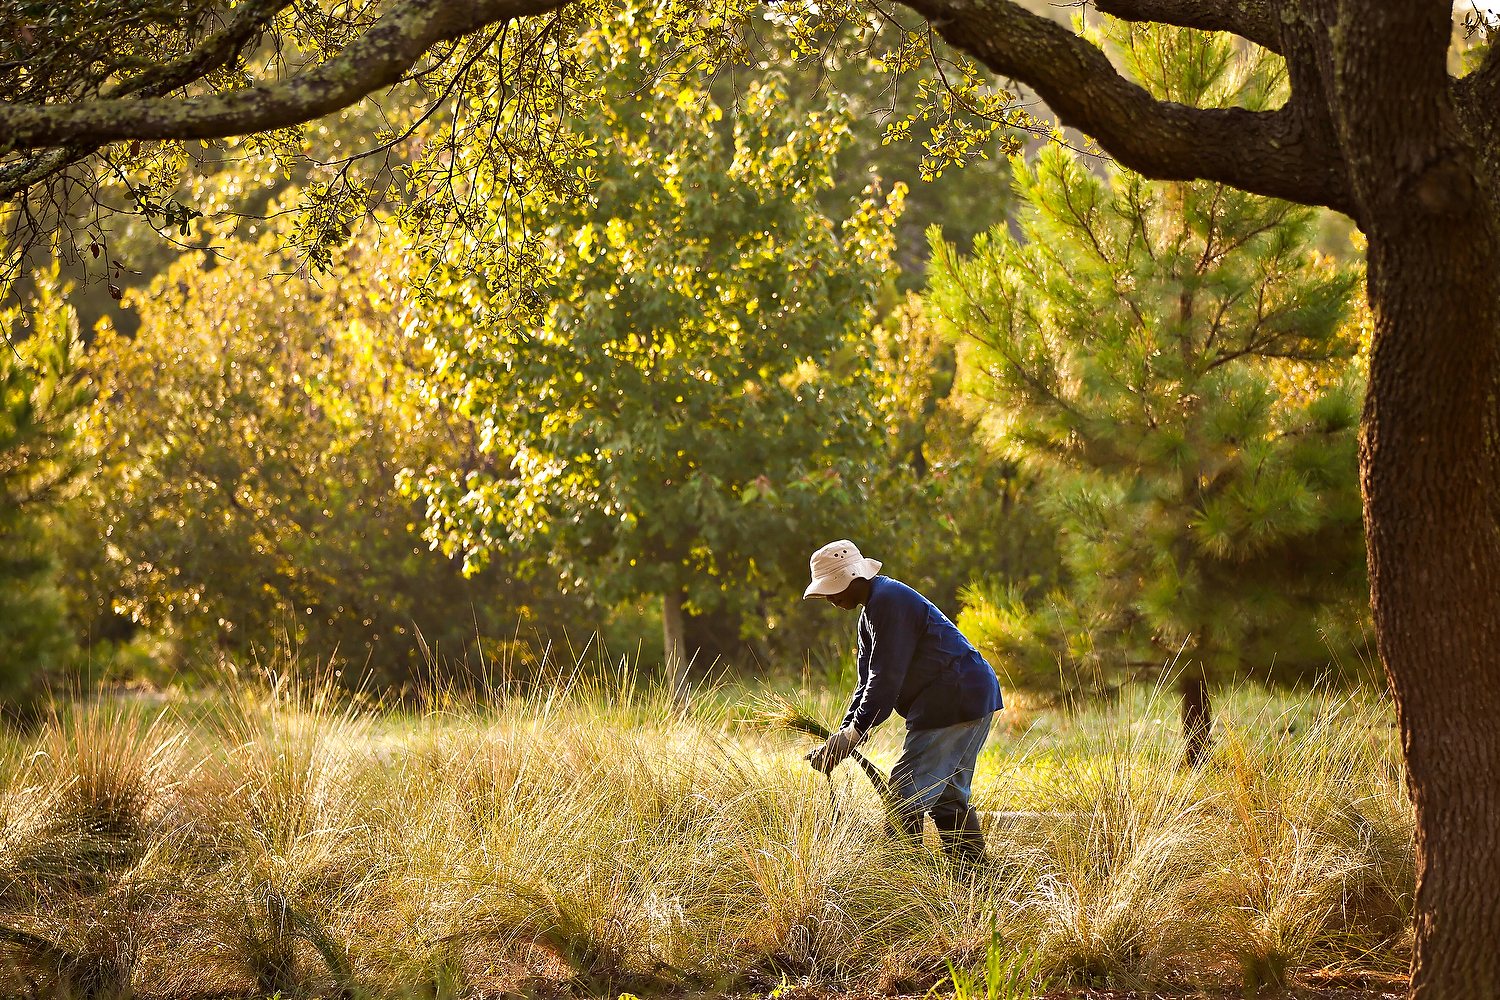
<path id="1" fill-rule="evenodd" d="M 0 148 L 210 139 L 285 129 L 400 81 L 430 46 L 566 0 L 404 0 L 328 61 L 290 79 L 186 100 L 87 100 L 0 108 Z"/>

